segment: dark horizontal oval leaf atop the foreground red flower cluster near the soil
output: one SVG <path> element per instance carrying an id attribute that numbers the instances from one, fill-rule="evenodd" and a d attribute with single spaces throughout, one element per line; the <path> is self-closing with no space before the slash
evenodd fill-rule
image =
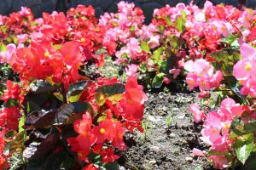
<path id="1" fill-rule="evenodd" d="M 112 96 L 114 94 L 123 94 L 125 92 L 125 86 L 121 83 L 109 84 L 97 88 L 96 92 L 106 94 L 107 96 Z"/>

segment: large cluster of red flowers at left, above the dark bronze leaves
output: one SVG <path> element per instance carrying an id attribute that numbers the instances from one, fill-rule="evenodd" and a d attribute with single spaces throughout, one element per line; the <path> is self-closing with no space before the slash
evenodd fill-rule
<path id="1" fill-rule="evenodd" d="M 79 80 L 79 67 L 86 59 L 78 42 L 66 42 L 55 49 L 52 42 L 32 42 L 29 48 L 19 48 L 10 65 L 25 81 L 51 79 L 62 82 L 65 89 Z"/>

